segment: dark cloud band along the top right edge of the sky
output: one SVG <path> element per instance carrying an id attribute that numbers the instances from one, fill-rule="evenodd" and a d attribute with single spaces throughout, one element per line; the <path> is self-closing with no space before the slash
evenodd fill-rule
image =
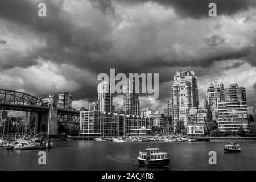
<path id="1" fill-rule="evenodd" d="M 122 0 L 125 3 L 144 3 L 149 0 Z M 209 18 L 209 3 L 216 3 L 217 15 L 234 15 L 240 11 L 255 7 L 254 0 L 151 0 L 164 6 L 171 6 L 181 17 Z"/>

